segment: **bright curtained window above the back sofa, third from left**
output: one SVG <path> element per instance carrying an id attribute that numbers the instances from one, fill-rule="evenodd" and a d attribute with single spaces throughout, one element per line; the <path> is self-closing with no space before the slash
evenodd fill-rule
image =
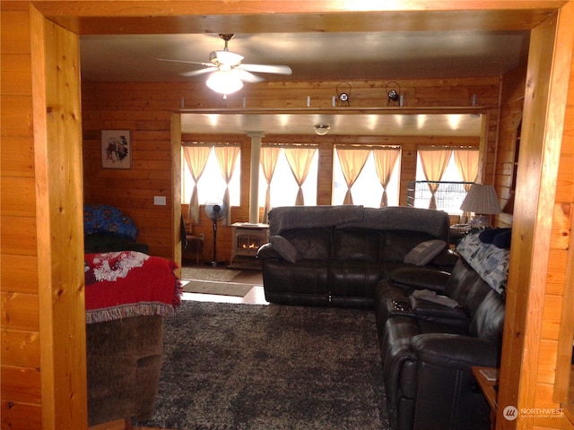
<path id="1" fill-rule="evenodd" d="M 364 149 L 364 148 L 362 148 Z M 372 148 L 377 150 L 377 148 Z M 393 147 L 383 147 L 380 150 L 392 150 Z M 360 175 L 351 187 L 352 204 L 361 204 L 366 207 L 381 207 L 383 198 L 383 186 L 378 179 L 375 156 L 370 150 L 369 156 L 361 169 Z M 398 150 L 398 149 L 397 149 Z M 347 193 L 347 183 L 344 178 L 343 168 L 337 153 L 334 156 L 333 167 L 333 204 L 343 204 Z M 387 185 L 387 206 L 398 206 L 399 199 L 399 176 L 400 176 L 400 150 L 394 164 L 391 166 L 391 176 Z"/>

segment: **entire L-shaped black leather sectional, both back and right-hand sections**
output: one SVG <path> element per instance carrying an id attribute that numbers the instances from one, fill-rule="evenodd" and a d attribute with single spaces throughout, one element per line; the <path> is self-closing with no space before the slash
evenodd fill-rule
<path id="1" fill-rule="evenodd" d="M 276 208 L 269 227 L 257 254 L 267 301 L 374 309 L 393 429 L 489 428 L 471 367 L 499 363 L 500 290 L 448 248 L 404 262 L 417 245 L 448 243 L 445 212 Z"/>

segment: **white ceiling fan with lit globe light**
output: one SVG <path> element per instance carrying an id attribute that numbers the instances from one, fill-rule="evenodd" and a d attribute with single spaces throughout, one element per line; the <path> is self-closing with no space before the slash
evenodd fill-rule
<path id="1" fill-rule="evenodd" d="M 257 76 L 255 73 L 278 73 L 291 74 L 291 67 L 288 65 L 276 64 L 242 64 L 243 56 L 229 50 L 228 44 L 233 34 L 220 34 L 219 37 L 225 41 L 225 47 L 219 51 L 212 51 L 209 54 L 209 63 L 170 60 L 158 58 L 160 61 L 169 61 L 173 63 L 201 64 L 204 69 L 192 70 L 181 73 L 182 76 L 198 76 L 204 73 L 211 73 L 207 80 L 207 86 L 216 92 L 230 94 L 243 87 L 243 82 L 262 82 L 264 78 Z"/>

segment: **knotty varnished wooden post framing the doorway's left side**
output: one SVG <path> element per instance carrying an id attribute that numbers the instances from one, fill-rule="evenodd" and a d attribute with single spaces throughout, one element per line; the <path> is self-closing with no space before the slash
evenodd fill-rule
<path id="1" fill-rule="evenodd" d="M 82 110 L 77 35 L 31 12 L 42 428 L 86 428 Z M 63 193 L 62 190 L 65 190 Z"/>

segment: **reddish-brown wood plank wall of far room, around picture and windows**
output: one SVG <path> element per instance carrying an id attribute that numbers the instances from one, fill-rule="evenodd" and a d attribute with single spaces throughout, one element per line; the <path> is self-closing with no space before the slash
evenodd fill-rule
<path id="1" fill-rule="evenodd" d="M 389 79 L 388 81 L 396 81 Z M 352 84 L 352 107 L 387 107 L 385 84 L 387 81 L 358 81 Z M 187 108 L 239 108 L 245 97 L 251 108 L 305 107 L 307 96 L 312 107 L 330 108 L 331 98 L 339 82 L 261 82 L 222 99 L 208 90 L 201 80 L 161 83 L 141 82 L 83 82 L 83 150 L 84 199 L 87 203 L 105 202 L 118 206 L 135 219 L 140 229 L 139 239 L 150 245 L 150 252 L 171 258 L 170 235 L 170 116 L 183 105 Z M 473 94 L 477 104 L 489 115 L 489 155 L 483 180 L 494 163 L 496 121 L 500 78 L 435 79 L 400 81 L 405 93 L 405 107 L 468 107 Z M 115 170 L 101 168 L 100 132 L 102 129 L 129 129 L 132 131 L 133 168 Z M 229 139 L 230 136 L 211 136 L 211 139 Z M 186 140 L 202 140 L 205 136 L 186 136 Z M 241 207 L 233 209 L 232 222 L 248 220 L 248 177 L 250 142 L 246 136 L 236 136 L 242 144 L 241 177 L 246 178 L 241 190 Z M 263 142 L 272 142 L 274 136 L 265 136 Z M 319 142 L 321 173 L 318 180 L 319 204 L 331 203 L 331 170 L 333 144 L 357 142 L 349 136 L 282 136 L 283 142 Z M 478 145 L 474 138 L 362 138 L 359 142 L 401 144 L 404 148 L 404 166 L 401 171 L 402 189 L 414 178 L 416 148 L 419 145 L 464 144 Z M 154 206 L 153 195 L 166 195 L 166 207 Z M 406 192 L 401 195 L 401 204 Z M 186 208 L 184 208 L 184 214 Z M 196 233 L 211 237 L 211 222 L 202 219 Z M 220 245 L 221 241 L 221 245 Z M 219 255 L 220 250 L 222 252 Z M 218 258 L 229 261 L 230 228 L 218 230 Z M 204 255 L 212 255 L 211 242 L 206 240 Z"/>

